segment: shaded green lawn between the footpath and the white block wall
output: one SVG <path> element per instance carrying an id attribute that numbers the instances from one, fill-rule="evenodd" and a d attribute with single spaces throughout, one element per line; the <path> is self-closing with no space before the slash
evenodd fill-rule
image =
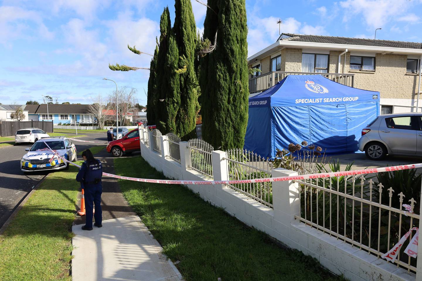
<path id="1" fill-rule="evenodd" d="M 117 174 L 165 179 L 141 157 L 114 159 Z M 123 194 L 187 281 L 317 281 L 332 277 L 316 260 L 284 250 L 181 185 L 119 180 Z"/>

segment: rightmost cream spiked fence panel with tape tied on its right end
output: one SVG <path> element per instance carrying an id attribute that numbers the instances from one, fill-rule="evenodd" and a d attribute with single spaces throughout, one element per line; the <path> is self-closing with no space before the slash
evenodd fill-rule
<path id="1" fill-rule="evenodd" d="M 419 215 L 413 214 L 414 198 L 407 198 L 411 211 L 405 212 L 403 192 L 394 193 L 392 187 L 386 189 L 377 179 L 344 176 L 297 180 L 301 206 L 297 219 L 380 257 L 408 230 L 419 226 Z M 395 264 L 416 272 L 416 259 L 403 254 L 411 237 L 403 244 Z"/>

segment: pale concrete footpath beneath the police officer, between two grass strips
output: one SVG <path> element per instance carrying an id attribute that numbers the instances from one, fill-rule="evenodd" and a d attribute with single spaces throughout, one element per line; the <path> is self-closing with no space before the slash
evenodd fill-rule
<path id="1" fill-rule="evenodd" d="M 98 157 L 100 156 L 100 157 Z M 104 171 L 114 173 L 113 158 L 96 155 Z M 103 156 L 103 157 L 101 157 Z M 81 230 L 85 217 L 72 227 L 73 281 L 179 281 L 179 270 L 161 254 L 162 247 L 124 199 L 116 179 L 103 178 L 103 227 Z"/>

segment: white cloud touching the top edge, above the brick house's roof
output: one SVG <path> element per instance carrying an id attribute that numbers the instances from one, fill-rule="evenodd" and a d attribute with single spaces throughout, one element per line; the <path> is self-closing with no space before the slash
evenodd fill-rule
<path id="1" fill-rule="evenodd" d="M 370 29 L 384 27 L 410 6 L 407 0 L 346 0 L 340 5 L 345 11 L 344 22 L 355 20 L 354 16 L 362 13 Z"/>

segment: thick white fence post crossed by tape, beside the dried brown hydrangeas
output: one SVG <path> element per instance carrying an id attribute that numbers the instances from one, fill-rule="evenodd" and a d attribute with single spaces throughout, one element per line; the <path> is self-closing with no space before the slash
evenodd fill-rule
<path id="1" fill-rule="evenodd" d="M 272 177 L 297 176 L 298 173 L 286 169 L 273 169 Z M 293 181 L 273 182 L 274 219 L 281 222 L 280 228 L 290 227 L 295 215 L 300 216 L 299 184 Z M 283 233 L 281 229 L 276 229 Z"/>

